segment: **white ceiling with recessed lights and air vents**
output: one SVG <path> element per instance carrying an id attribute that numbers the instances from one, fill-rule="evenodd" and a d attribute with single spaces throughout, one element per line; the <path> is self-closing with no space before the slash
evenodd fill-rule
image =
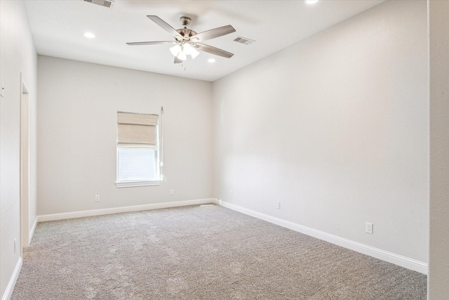
<path id="1" fill-rule="evenodd" d="M 306 4 L 303 0 L 116 0 L 112 8 L 106 8 L 83 0 L 27 0 L 25 6 L 41 55 L 215 81 L 383 1 L 321 0 Z M 232 25 L 236 32 L 203 44 L 234 56 L 228 59 L 201 52 L 182 67 L 173 63 L 169 44 L 126 45 L 132 41 L 173 39 L 146 15 L 157 15 L 175 29 L 182 27 L 179 19 L 186 15 L 192 18 L 188 28 L 196 32 Z M 84 37 L 85 32 L 95 34 L 95 39 Z M 234 41 L 239 36 L 255 43 L 239 44 Z M 208 58 L 216 62 L 208 63 Z"/>

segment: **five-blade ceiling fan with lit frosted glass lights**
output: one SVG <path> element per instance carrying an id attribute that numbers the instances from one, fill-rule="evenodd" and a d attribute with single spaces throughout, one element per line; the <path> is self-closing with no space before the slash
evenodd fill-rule
<path id="1" fill-rule="evenodd" d="M 157 45 L 157 44 L 175 44 L 170 48 L 170 52 L 175 56 L 175 63 L 182 63 L 182 61 L 187 59 L 187 56 L 192 56 L 196 58 L 199 55 L 199 51 L 204 51 L 207 53 L 214 54 L 215 56 L 221 56 L 223 58 L 232 58 L 234 53 L 222 50 L 220 48 L 215 48 L 206 44 L 202 44 L 202 41 L 207 41 L 208 39 L 215 39 L 215 37 L 222 37 L 223 35 L 230 34 L 236 30 L 231 25 L 226 25 L 222 27 L 217 27 L 212 30 L 206 30 L 205 32 L 196 33 L 193 30 L 187 28 L 190 25 L 191 19 L 188 17 L 181 17 L 181 25 L 184 26 L 179 30 L 168 25 L 161 18 L 156 15 L 147 15 L 149 20 L 152 20 L 157 25 L 159 25 L 163 30 L 170 33 L 175 37 L 174 41 L 137 41 L 133 43 L 126 43 L 129 46 L 142 46 L 142 45 Z"/>

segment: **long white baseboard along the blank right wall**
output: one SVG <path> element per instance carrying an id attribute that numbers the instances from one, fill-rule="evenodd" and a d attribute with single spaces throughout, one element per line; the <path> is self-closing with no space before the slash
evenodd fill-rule
<path id="1" fill-rule="evenodd" d="M 387 252 L 382 249 L 377 249 L 375 247 L 368 246 L 366 244 L 361 244 L 359 242 L 354 242 L 352 240 L 347 240 L 344 237 L 339 237 L 337 235 L 331 235 L 329 233 L 325 233 L 320 230 L 316 230 L 314 228 L 309 228 L 307 226 L 302 226 L 297 223 L 293 223 L 290 221 L 286 221 L 283 219 L 276 218 L 274 216 L 269 216 L 267 214 L 262 214 L 257 211 L 253 211 L 251 209 L 246 209 L 244 207 L 240 207 L 239 205 L 232 204 L 229 202 L 225 202 L 222 200 L 214 199 L 213 203 L 219 204 L 222 207 L 227 207 L 229 209 L 239 211 L 243 214 L 248 214 L 249 216 L 253 216 L 257 219 L 262 219 L 264 221 L 268 221 L 270 223 L 274 223 L 276 225 L 289 228 L 291 230 L 295 230 L 299 233 L 304 233 L 306 235 L 310 235 L 312 237 L 319 238 L 320 240 L 325 240 L 326 242 L 331 242 L 333 244 L 337 244 L 339 246 L 345 247 L 347 249 L 354 250 L 356 252 L 360 252 L 362 254 L 366 254 L 369 256 L 373 256 L 376 259 L 381 259 L 382 261 L 387 261 L 389 263 L 394 263 L 403 268 L 408 268 L 410 270 L 415 270 L 417 272 L 427 274 L 427 263 L 422 261 L 417 261 L 415 259 L 410 259 L 406 256 L 394 254 L 392 252 Z"/>

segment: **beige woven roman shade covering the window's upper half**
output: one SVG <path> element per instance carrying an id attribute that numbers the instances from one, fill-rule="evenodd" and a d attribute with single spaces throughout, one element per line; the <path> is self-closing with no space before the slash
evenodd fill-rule
<path id="1" fill-rule="evenodd" d="M 158 115 L 117 112 L 117 143 L 156 145 L 158 122 Z"/>

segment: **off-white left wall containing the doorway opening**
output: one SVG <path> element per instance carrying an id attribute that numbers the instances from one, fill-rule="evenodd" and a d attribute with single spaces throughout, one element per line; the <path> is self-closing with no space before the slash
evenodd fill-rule
<path id="1" fill-rule="evenodd" d="M 37 55 L 22 1 L 0 1 L 0 296 L 11 292 L 20 266 L 20 72 L 30 102 L 30 226 L 36 219 L 36 67 Z M 14 240 L 17 251 L 14 253 Z M 9 288 L 9 289 L 8 289 Z"/>

